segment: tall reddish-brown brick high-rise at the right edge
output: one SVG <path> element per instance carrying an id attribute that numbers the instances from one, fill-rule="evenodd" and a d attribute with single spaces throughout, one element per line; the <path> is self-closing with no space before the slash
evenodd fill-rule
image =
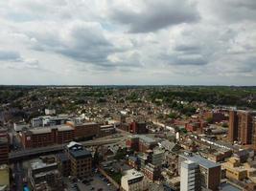
<path id="1" fill-rule="evenodd" d="M 254 144 L 252 142 L 253 130 L 253 117 L 256 112 L 251 111 L 230 111 L 229 113 L 229 129 L 228 138 L 231 142 L 237 140 L 241 144 Z"/>

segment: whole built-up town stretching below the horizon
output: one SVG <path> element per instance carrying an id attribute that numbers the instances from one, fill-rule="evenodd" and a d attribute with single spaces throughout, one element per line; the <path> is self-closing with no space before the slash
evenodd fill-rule
<path id="1" fill-rule="evenodd" d="M 256 189 L 255 87 L 0 92 L 1 190 Z"/>

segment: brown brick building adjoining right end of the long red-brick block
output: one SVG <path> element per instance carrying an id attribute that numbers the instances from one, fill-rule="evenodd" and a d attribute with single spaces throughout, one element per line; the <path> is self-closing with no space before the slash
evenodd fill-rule
<path id="1" fill-rule="evenodd" d="M 75 130 L 75 139 L 93 139 L 99 137 L 100 125 L 95 122 L 75 123 L 68 121 L 67 125 Z"/>

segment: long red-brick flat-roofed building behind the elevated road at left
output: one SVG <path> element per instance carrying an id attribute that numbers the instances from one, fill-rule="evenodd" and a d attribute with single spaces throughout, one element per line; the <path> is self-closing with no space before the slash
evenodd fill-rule
<path id="1" fill-rule="evenodd" d="M 63 144 L 75 137 L 74 129 L 67 125 L 35 128 L 21 133 L 24 148 L 44 147 L 53 144 Z"/>

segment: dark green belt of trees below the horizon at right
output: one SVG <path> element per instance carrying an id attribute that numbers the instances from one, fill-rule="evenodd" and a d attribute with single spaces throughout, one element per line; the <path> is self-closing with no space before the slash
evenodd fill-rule
<path id="1" fill-rule="evenodd" d="M 155 102 L 161 99 L 165 103 L 174 104 L 174 100 L 179 101 L 199 101 L 209 105 L 228 105 L 238 107 L 248 107 L 256 109 L 256 90 L 255 88 L 238 88 L 230 87 L 217 88 L 180 88 L 175 90 L 153 91 L 151 93 L 151 101 Z"/>

